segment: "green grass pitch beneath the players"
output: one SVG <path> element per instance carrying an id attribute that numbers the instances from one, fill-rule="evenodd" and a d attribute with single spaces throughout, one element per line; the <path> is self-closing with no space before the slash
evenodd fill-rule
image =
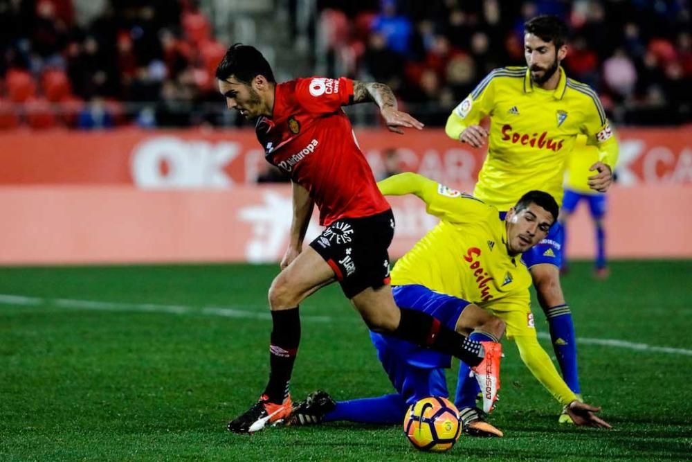
<path id="1" fill-rule="evenodd" d="M 449 453 L 426 454 L 399 426 L 226 431 L 266 382 L 275 265 L 0 268 L 0 460 L 689 460 L 692 262 L 611 269 L 594 281 L 575 263 L 563 285 L 583 339 L 585 398 L 614 429 L 559 426 L 560 406 L 505 342 L 491 420 L 506 437 L 462 436 Z M 300 310 L 294 399 L 390 392 L 338 286 Z"/>

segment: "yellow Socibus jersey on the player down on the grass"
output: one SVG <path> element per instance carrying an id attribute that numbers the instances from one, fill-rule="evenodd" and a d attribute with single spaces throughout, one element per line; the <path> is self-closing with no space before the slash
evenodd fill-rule
<path id="1" fill-rule="evenodd" d="M 414 173 L 378 186 L 385 195 L 419 196 L 440 218 L 394 265 L 392 285 L 419 284 L 493 311 L 530 312 L 531 276 L 520 256 L 507 253 L 497 208 Z"/>

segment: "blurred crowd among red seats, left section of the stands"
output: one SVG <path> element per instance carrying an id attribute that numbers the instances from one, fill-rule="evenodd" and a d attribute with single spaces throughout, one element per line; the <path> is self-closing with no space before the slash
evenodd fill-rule
<path id="1" fill-rule="evenodd" d="M 197 3 L 76 3 L 0 0 L 0 127 L 205 122 L 227 46 Z"/>

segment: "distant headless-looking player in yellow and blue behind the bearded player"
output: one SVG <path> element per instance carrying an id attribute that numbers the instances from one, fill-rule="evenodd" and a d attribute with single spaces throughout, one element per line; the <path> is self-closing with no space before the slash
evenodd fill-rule
<path id="1" fill-rule="evenodd" d="M 560 224 L 563 226 L 565 242 L 563 243 L 563 264 L 561 273 L 567 273 L 567 222 L 574 213 L 579 202 L 589 204 L 589 212 L 594 222 L 596 240 L 596 259 L 594 260 L 594 276 L 608 278 L 608 262 L 605 258 L 605 226 L 603 218 L 608 209 L 608 199 L 605 194 L 594 191 L 589 187 L 589 168 L 598 161 L 599 151 L 594 146 L 586 144 L 586 136 L 578 136 L 574 150 L 567 159 L 567 174 L 565 175 L 565 196 L 560 211 Z"/>

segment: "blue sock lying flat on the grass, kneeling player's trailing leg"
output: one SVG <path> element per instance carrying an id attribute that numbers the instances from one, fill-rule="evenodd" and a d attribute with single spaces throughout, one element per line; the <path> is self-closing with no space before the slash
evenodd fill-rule
<path id="1" fill-rule="evenodd" d="M 402 423 L 406 409 L 408 405 L 399 394 L 339 401 L 334 411 L 325 414 L 322 422 L 349 420 L 361 423 Z"/>

